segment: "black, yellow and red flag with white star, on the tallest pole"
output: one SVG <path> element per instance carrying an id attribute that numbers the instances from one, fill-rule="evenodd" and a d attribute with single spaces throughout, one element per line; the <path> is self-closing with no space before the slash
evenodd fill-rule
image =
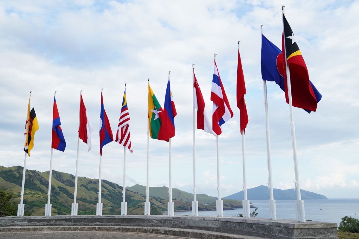
<path id="1" fill-rule="evenodd" d="M 292 28 L 290 28 L 284 14 L 282 53 L 284 62 L 286 60 L 289 67 L 293 106 L 305 110 L 316 111 L 318 101 L 314 94 L 312 85 L 309 82 L 308 69 L 306 63 L 304 62 L 302 53 L 300 53 Z M 284 71 L 284 78 L 285 99 L 288 103 L 289 98 L 286 71 Z"/>

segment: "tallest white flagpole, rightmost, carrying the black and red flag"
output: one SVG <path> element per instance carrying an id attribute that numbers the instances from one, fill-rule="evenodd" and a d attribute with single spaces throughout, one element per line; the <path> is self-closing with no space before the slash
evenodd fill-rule
<path id="1" fill-rule="evenodd" d="M 283 34 L 284 34 L 284 7 L 282 6 L 282 20 L 283 20 Z M 294 128 L 294 118 L 293 118 L 293 102 L 292 102 L 292 88 L 290 85 L 290 71 L 286 59 L 286 49 L 285 49 L 285 36 L 284 38 L 284 58 L 285 58 L 285 69 L 287 76 L 287 88 L 288 88 L 288 98 L 289 98 L 289 114 L 290 114 L 290 129 L 292 133 L 292 148 L 293 148 L 293 159 L 294 159 L 294 172 L 295 172 L 295 188 L 297 190 L 297 200 L 295 201 L 295 212 L 297 215 L 297 221 L 305 223 L 306 216 L 304 212 L 304 201 L 300 196 L 300 182 L 299 182 L 299 169 L 298 169 L 298 158 L 297 158 L 297 142 L 295 139 L 295 128 Z"/>

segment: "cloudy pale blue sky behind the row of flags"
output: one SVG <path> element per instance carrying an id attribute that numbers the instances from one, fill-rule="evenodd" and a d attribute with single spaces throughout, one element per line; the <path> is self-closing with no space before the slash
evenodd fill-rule
<path id="1" fill-rule="evenodd" d="M 323 95 L 316 112 L 294 108 L 301 187 L 329 198 L 359 198 L 359 1 L 0 1 L 0 165 L 24 161 L 29 91 L 39 130 L 27 168 L 50 167 L 52 104 L 56 93 L 65 152 L 53 169 L 75 174 L 80 90 L 94 131 L 92 149 L 79 145 L 79 176 L 98 178 L 101 87 L 115 135 L 125 83 L 133 154 L 126 185 L 146 184 L 148 78 L 163 106 L 168 71 L 176 104 L 172 138 L 173 187 L 192 192 L 192 63 L 211 111 L 214 53 L 234 116 L 219 137 L 221 194 L 243 189 L 242 138 L 236 107 L 237 41 L 247 94 L 247 187 L 268 182 L 261 34 L 281 44 L 281 6 Z M 355 63 L 357 62 L 357 63 Z M 273 184 L 294 188 L 289 105 L 267 83 Z M 168 143 L 149 142 L 150 186 L 168 186 Z M 217 195 L 216 139 L 196 130 L 197 193 Z M 104 146 L 102 178 L 122 185 L 123 147 Z"/>

